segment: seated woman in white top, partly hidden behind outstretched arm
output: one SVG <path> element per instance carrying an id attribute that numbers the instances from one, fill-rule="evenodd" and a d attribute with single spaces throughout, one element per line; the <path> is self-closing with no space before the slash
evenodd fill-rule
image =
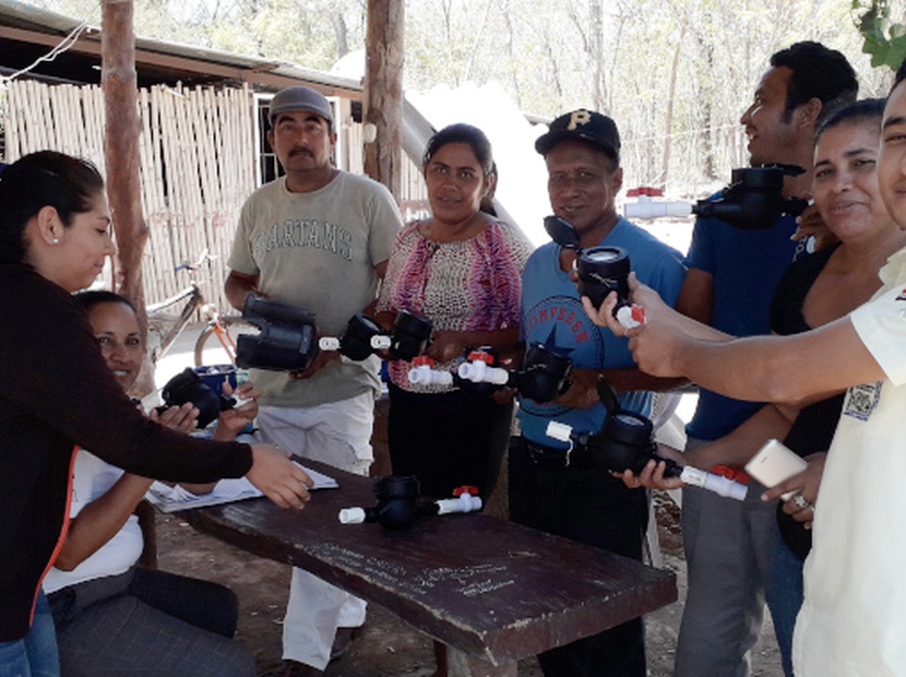
<path id="1" fill-rule="evenodd" d="M 107 367 L 128 392 L 145 354 L 134 307 L 111 292 L 84 292 L 75 300 Z M 228 384 L 224 389 L 231 394 Z M 213 439 L 235 440 L 258 413 L 254 397 L 261 391 L 243 383 L 237 392 L 252 402 L 223 412 Z M 187 432 L 195 428 L 198 414 L 191 403 L 151 413 Z M 138 566 L 145 543 L 133 513 L 153 479 L 123 473 L 85 449 L 76 453 L 72 474 L 69 535 L 44 580 L 61 674 L 254 675 L 252 656 L 230 641 L 238 618 L 233 591 Z M 179 641 L 160 642 L 162 634 Z"/>

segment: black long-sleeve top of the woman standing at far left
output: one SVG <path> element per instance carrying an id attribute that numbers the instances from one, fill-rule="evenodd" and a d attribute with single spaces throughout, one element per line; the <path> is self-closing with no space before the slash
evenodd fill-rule
<path id="1" fill-rule="evenodd" d="M 81 307 L 25 264 L 0 264 L 0 642 L 25 636 L 63 532 L 75 446 L 146 477 L 241 477 L 251 449 L 142 415 Z"/>

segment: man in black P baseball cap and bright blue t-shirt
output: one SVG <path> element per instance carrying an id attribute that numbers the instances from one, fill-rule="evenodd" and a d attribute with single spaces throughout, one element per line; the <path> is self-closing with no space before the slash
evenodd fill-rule
<path id="1" fill-rule="evenodd" d="M 607 116 L 580 109 L 560 116 L 535 143 L 548 170 L 553 213 L 576 229 L 582 248 L 619 247 L 632 270 L 672 304 L 686 269 L 680 253 L 617 214 L 622 186 L 620 134 Z M 520 400 L 521 435 L 510 447 L 510 516 L 514 522 L 641 560 L 647 498 L 610 475 L 594 452 L 547 436 L 558 421 L 574 433 L 600 432 L 607 409 L 596 384 L 604 376 L 623 411 L 647 415 L 649 391 L 664 382 L 635 367 L 627 340 L 596 328 L 570 273 L 575 252 L 539 247 L 523 273 L 522 336 L 570 355 L 570 389 L 550 403 Z M 546 676 L 645 675 L 642 619 L 636 618 L 538 656 Z"/>

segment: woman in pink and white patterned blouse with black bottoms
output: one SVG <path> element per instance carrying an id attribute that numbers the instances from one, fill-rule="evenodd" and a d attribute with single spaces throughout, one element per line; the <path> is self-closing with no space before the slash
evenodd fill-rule
<path id="1" fill-rule="evenodd" d="M 522 233 L 481 210 L 496 168 L 481 130 L 451 124 L 436 133 L 422 169 L 431 216 L 396 238 L 378 301 L 379 322 L 401 310 L 433 323 L 427 355 L 450 369 L 470 347 L 511 352 L 520 343 L 522 269 L 531 246 Z M 415 475 L 422 492 L 443 498 L 462 485 L 490 494 L 510 436 L 512 402 L 412 383 L 410 365 L 391 361 L 389 447 L 393 472 Z"/>

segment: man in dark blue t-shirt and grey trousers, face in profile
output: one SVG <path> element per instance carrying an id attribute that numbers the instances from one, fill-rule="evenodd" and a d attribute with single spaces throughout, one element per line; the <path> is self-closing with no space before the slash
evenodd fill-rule
<path id="1" fill-rule="evenodd" d="M 797 43 L 773 55 L 753 103 L 740 119 L 751 165 L 806 168 L 804 174 L 786 178 L 784 194 L 808 197 L 815 126 L 831 110 L 855 100 L 857 91 L 853 68 L 838 51 L 818 43 Z M 790 240 L 796 231 L 792 218 L 767 226 L 743 230 L 714 218 L 696 221 L 677 310 L 732 336 L 770 333 L 777 283 L 803 247 Z M 687 426 L 684 462 L 711 470 L 704 446 L 735 430 L 761 407 L 700 390 L 695 415 Z M 789 421 L 765 419 L 759 425 L 765 440 L 783 439 Z M 752 483 L 747 500 L 736 502 L 683 488 L 689 590 L 677 645 L 677 677 L 750 673 L 749 653 L 761 629 L 777 531 L 775 504 L 762 501 L 762 491 Z M 787 653 L 787 648 L 782 650 Z"/>

